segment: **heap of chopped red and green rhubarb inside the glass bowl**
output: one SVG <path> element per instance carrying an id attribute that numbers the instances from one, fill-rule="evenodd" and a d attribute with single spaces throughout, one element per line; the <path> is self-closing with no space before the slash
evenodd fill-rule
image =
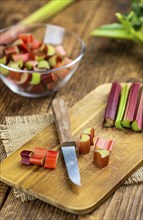
<path id="1" fill-rule="evenodd" d="M 27 92 L 43 93 L 46 90 L 52 90 L 58 81 L 70 74 L 73 68 L 44 73 L 44 71 L 70 64 L 72 60 L 67 57 L 62 45 L 47 45 L 31 33 L 19 34 L 18 39 L 12 44 L 1 46 L 0 56 L 1 64 L 15 69 L 14 71 L 1 66 L 1 74 Z M 28 71 L 34 72 L 28 73 Z"/>

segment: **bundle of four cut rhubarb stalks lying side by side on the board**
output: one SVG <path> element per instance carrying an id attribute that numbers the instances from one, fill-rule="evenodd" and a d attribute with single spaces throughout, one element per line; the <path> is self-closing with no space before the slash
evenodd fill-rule
<path id="1" fill-rule="evenodd" d="M 104 127 L 143 130 L 143 85 L 112 83 L 104 115 Z"/>

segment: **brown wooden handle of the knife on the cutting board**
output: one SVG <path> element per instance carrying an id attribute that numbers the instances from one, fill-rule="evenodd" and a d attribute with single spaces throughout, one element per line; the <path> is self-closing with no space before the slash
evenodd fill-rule
<path id="1" fill-rule="evenodd" d="M 70 118 L 68 113 L 68 107 L 64 100 L 54 99 L 52 102 L 52 111 L 55 118 L 56 128 L 58 131 L 61 145 L 71 145 L 73 139 L 70 128 Z M 75 145 L 75 142 L 73 142 L 73 145 Z"/>

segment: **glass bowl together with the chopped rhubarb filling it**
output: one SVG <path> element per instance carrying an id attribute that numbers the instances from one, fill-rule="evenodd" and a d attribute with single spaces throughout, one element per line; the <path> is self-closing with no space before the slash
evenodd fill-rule
<path id="1" fill-rule="evenodd" d="M 53 94 L 69 81 L 85 53 L 77 34 L 51 24 L 0 31 L 0 77 L 25 97 Z"/>

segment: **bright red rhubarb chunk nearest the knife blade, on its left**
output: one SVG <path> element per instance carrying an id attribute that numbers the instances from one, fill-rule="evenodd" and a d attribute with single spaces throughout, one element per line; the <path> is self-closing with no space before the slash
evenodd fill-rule
<path id="1" fill-rule="evenodd" d="M 55 169 L 57 165 L 59 152 L 48 150 L 46 154 L 44 168 Z"/>

